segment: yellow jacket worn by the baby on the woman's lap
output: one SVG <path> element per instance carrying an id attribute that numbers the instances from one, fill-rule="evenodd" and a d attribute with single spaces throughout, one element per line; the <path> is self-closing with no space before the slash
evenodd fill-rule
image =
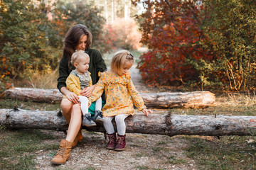
<path id="1" fill-rule="evenodd" d="M 90 75 L 90 72 L 89 72 Z M 76 77 L 74 74 L 69 74 L 68 78 L 66 79 L 66 84 L 67 84 L 67 89 L 69 91 L 72 91 L 78 96 L 80 95 L 81 92 L 81 87 L 80 87 L 80 80 L 79 77 Z M 92 86 L 92 77 L 90 77 L 90 82 L 89 86 Z M 64 96 L 66 98 L 66 96 Z"/>

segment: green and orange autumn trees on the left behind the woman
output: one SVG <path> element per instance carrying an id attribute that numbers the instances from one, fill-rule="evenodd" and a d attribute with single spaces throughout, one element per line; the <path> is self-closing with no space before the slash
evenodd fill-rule
<path id="1" fill-rule="evenodd" d="M 32 0 L 0 1 L 1 77 L 29 79 L 58 67 L 63 39 L 70 26 L 82 23 L 93 35 L 93 47 L 105 52 L 105 19 L 95 6 L 78 1 L 46 4 Z"/>

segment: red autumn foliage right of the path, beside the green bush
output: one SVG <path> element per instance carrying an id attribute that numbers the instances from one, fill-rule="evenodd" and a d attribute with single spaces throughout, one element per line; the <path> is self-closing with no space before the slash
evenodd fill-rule
<path id="1" fill-rule="evenodd" d="M 137 18 L 142 21 L 142 43 L 150 50 L 141 56 L 139 70 L 147 83 L 174 85 L 195 79 L 196 71 L 186 60 L 211 59 L 200 43 L 207 13 L 202 13 L 204 6 L 197 3 L 196 0 L 143 2 L 146 11 Z"/>

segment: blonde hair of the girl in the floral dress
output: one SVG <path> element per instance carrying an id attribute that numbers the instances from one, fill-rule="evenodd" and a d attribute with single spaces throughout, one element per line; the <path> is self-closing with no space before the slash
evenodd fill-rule
<path id="1" fill-rule="evenodd" d="M 114 57 L 111 60 L 110 68 L 114 72 L 118 72 L 122 67 L 124 67 L 125 62 L 134 63 L 134 56 L 127 50 L 120 50 L 114 53 Z"/>

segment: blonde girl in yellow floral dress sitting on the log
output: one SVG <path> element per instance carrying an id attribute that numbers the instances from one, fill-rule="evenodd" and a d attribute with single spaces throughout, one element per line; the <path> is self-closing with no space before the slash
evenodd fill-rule
<path id="1" fill-rule="evenodd" d="M 92 96 L 89 97 L 90 104 L 99 98 L 105 90 L 106 104 L 102 108 L 102 112 L 103 125 L 109 137 L 109 142 L 106 145 L 107 149 L 124 150 L 126 145 L 124 119 L 128 115 L 135 114 L 133 103 L 146 116 L 152 113 L 152 111 L 146 109 L 142 97 L 139 96 L 139 92 L 132 83 L 128 71 L 132 64 L 134 64 L 134 57 L 130 52 L 127 50 L 116 52 L 112 57 L 110 71 L 99 72 L 100 79 L 94 91 L 92 91 Z M 117 124 L 117 137 L 112 124 L 113 118 Z"/>

